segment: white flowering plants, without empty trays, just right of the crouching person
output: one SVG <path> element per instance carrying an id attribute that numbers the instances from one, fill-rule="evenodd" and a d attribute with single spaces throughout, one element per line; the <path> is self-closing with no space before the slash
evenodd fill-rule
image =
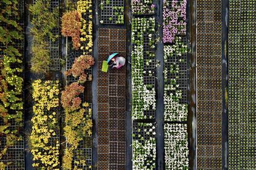
<path id="1" fill-rule="evenodd" d="M 154 51 L 146 51 L 143 47 L 144 35 L 148 36 L 148 48 L 155 49 L 154 18 L 134 18 L 132 21 L 132 118 L 146 118 L 144 111 L 155 110 L 155 84 L 152 86 L 144 83 L 144 76 L 147 70 L 144 70 L 144 55 L 155 58 Z M 148 34 L 149 33 L 149 34 Z M 151 73 L 151 76 L 155 73 Z"/>

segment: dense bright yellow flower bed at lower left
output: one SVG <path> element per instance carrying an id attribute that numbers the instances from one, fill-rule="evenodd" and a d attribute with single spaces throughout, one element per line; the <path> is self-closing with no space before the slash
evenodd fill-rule
<path id="1" fill-rule="evenodd" d="M 59 81 L 36 80 L 30 134 L 33 167 L 59 169 Z"/>

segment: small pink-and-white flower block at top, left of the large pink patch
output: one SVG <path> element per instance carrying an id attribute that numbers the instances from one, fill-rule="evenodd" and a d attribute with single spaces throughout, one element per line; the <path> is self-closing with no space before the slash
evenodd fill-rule
<path id="1" fill-rule="evenodd" d="M 132 14 L 155 14 L 153 0 L 132 0 Z"/>

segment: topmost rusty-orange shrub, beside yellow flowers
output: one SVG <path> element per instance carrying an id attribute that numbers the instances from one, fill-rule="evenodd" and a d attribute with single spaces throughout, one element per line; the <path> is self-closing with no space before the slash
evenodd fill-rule
<path id="1" fill-rule="evenodd" d="M 61 33 L 72 38 L 74 49 L 80 45 L 81 14 L 77 10 L 65 12 L 62 16 Z"/>

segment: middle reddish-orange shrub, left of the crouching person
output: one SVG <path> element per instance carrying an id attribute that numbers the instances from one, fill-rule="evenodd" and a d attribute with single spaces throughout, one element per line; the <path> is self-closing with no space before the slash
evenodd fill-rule
<path id="1" fill-rule="evenodd" d="M 85 70 L 90 68 L 94 64 L 94 59 L 91 55 L 81 55 L 75 59 L 74 64 L 70 70 L 67 70 L 65 75 L 72 75 L 75 78 L 79 77 L 79 82 L 84 83 L 87 79 Z"/>

